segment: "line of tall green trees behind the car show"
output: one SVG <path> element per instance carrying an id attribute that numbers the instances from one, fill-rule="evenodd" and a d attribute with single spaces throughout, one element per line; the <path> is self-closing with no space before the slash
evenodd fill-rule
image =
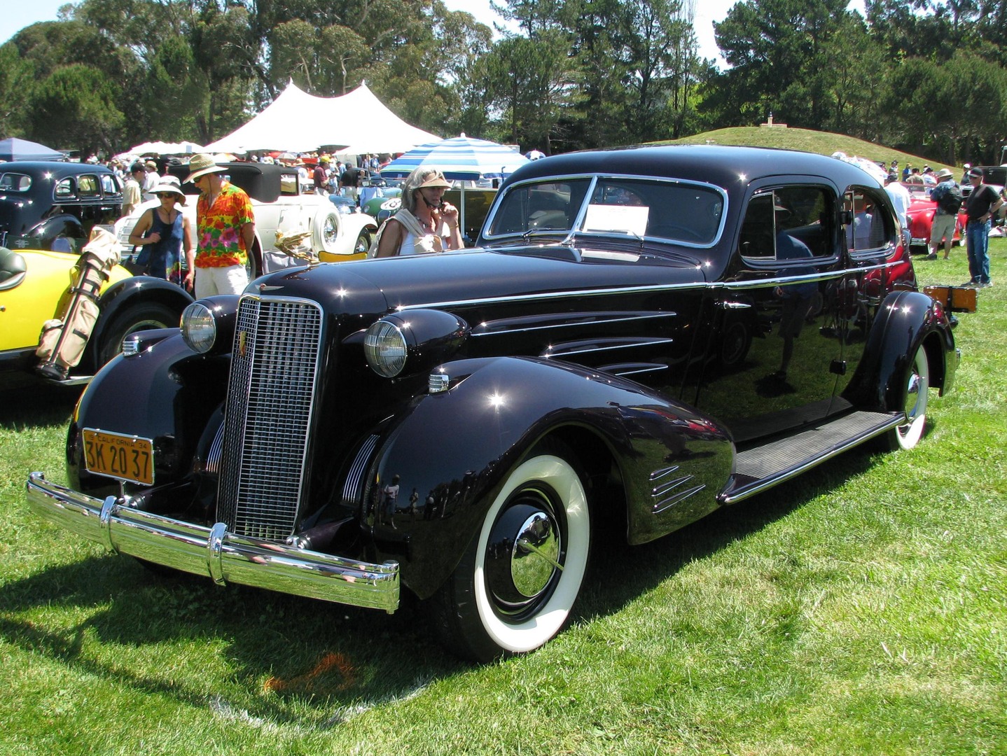
<path id="1" fill-rule="evenodd" d="M 0 46 L 0 135 L 112 154 L 205 144 L 293 81 L 546 153 L 761 123 L 999 162 L 1007 0 L 744 0 L 700 57 L 696 0 L 83 0 Z M 367 113 L 355 114 L 367 118 Z"/>

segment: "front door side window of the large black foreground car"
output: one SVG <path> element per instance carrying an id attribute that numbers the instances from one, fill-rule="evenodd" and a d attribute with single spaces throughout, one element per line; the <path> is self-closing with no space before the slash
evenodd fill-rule
<path id="1" fill-rule="evenodd" d="M 831 197 L 820 186 L 780 186 L 757 192 L 745 209 L 738 252 L 753 260 L 829 257 Z"/>

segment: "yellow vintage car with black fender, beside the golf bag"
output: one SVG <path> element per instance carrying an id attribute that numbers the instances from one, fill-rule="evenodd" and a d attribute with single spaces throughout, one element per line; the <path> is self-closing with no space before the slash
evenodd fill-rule
<path id="1" fill-rule="evenodd" d="M 0 390 L 34 379 L 45 321 L 60 318 L 71 296 L 79 256 L 0 247 Z M 167 281 L 115 266 L 102 286 L 99 317 L 81 363 L 60 383 L 87 383 L 133 331 L 174 327 L 192 298 Z"/>

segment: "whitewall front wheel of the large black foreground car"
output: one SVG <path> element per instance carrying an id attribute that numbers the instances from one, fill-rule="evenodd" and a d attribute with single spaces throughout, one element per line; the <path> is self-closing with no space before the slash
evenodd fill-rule
<path id="1" fill-rule="evenodd" d="M 535 650 L 570 615 L 591 539 L 587 496 L 565 459 L 511 473 L 437 596 L 442 640 L 475 661 Z"/>

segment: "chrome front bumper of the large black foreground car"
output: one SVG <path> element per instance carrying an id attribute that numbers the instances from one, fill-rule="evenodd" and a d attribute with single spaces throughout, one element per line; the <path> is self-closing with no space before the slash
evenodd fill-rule
<path id="1" fill-rule="evenodd" d="M 117 554 L 193 575 L 220 585 L 265 588 L 350 606 L 399 608 L 399 563 L 356 562 L 134 509 L 121 499 L 104 501 L 45 480 L 33 472 L 28 506 L 36 514 Z"/>

